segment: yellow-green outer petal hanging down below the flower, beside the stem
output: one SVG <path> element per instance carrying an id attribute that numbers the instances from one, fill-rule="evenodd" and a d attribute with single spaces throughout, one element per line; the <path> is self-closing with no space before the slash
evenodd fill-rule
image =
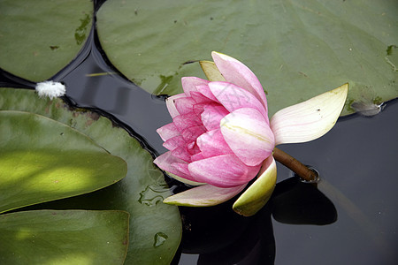
<path id="1" fill-rule="evenodd" d="M 242 216 L 253 216 L 270 199 L 276 184 L 276 163 L 270 155 L 263 163 L 256 181 L 233 203 L 233 210 Z"/>

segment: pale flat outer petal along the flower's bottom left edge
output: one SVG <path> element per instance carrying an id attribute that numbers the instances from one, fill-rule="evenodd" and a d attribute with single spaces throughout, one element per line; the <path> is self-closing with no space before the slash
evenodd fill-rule
<path id="1" fill-rule="evenodd" d="M 204 207 L 218 205 L 241 193 L 246 184 L 230 188 L 203 185 L 172 195 L 163 202 L 180 206 Z"/>

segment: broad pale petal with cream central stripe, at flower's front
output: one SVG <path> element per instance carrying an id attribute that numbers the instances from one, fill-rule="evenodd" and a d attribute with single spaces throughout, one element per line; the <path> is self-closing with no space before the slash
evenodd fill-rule
<path id="1" fill-rule="evenodd" d="M 275 147 L 270 126 L 255 109 L 233 111 L 221 120 L 220 128 L 233 153 L 248 166 L 262 163 Z"/>

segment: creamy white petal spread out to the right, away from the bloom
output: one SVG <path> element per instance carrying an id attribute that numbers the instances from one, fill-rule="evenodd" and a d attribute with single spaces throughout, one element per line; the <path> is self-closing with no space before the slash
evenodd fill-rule
<path id="1" fill-rule="evenodd" d="M 348 84 L 293 106 L 271 118 L 275 144 L 315 140 L 332 129 L 348 94 Z"/>

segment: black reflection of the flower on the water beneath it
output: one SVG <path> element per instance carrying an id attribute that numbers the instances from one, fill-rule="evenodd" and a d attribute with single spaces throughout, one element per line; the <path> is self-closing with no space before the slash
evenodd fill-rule
<path id="1" fill-rule="evenodd" d="M 273 264 L 276 246 L 272 217 L 280 223 L 317 225 L 337 219 L 333 203 L 316 186 L 299 178 L 280 182 L 256 216 L 236 215 L 232 203 L 180 208 L 186 227 L 182 252 L 200 254 L 198 264 Z"/>

